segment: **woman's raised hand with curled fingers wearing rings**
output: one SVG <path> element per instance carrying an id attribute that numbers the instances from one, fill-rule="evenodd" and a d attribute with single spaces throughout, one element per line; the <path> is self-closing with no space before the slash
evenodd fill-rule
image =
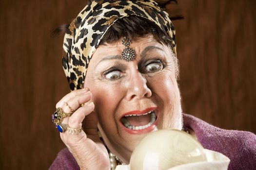
<path id="1" fill-rule="evenodd" d="M 75 111 L 71 117 L 62 121 L 70 128 L 80 128 L 85 120 L 81 133 L 71 135 L 66 131 L 60 133 L 60 137 L 76 158 L 81 170 L 110 170 L 109 155 L 98 136 L 98 119 L 93 112 L 94 103 L 91 99 L 89 89 L 83 88 L 70 92 L 56 104 L 56 108 L 61 107 L 65 113 L 72 112 L 72 109 Z"/>

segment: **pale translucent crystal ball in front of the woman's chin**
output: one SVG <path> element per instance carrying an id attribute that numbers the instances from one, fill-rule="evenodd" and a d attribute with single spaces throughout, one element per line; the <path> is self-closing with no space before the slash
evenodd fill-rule
<path id="1" fill-rule="evenodd" d="M 131 170 L 168 170 L 178 165 L 207 161 L 201 144 L 180 130 L 158 130 L 147 134 L 130 159 Z"/>

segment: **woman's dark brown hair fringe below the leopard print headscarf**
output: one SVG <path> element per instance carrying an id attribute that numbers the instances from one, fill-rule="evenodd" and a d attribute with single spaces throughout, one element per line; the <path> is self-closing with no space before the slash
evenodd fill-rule
<path id="1" fill-rule="evenodd" d="M 170 48 L 172 47 L 172 39 L 169 35 L 164 33 L 155 23 L 135 15 L 118 19 L 101 38 L 99 45 L 118 42 L 124 36 L 127 36 L 132 41 L 136 41 L 138 38 L 150 34 L 153 35 L 158 43 L 167 45 Z M 179 67 L 177 57 L 173 57 L 173 60 L 176 77 L 178 78 Z"/>

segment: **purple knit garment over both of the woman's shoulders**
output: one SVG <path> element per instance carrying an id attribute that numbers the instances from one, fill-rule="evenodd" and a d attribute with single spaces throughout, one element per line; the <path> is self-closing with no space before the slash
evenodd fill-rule
<path id="1" fill-rule="evenodd" d="M 183 114 L 184 125 L 193 129 L 205 149 L 230 158 L 228 170 L 256 170 L 256 135 L 251 132 L 224 130 L 194 116 Z M 79 170 L 67 148 L 61 150 L 50 170 Z"/>

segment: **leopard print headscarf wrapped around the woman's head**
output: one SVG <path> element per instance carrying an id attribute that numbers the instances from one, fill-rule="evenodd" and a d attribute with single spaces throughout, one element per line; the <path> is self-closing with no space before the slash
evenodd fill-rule
<path id="1" fill-rule="evenodd" d="M 136 15 L 146 18 L 172 38 L 176 55 L 175 29 L 153 0 L 95 0 L 89 2 L 69 26 L 64 36 L 62 65 L 71 90 L 83 87 L 90 59 L 100 39 L 119 18 Z"/>

